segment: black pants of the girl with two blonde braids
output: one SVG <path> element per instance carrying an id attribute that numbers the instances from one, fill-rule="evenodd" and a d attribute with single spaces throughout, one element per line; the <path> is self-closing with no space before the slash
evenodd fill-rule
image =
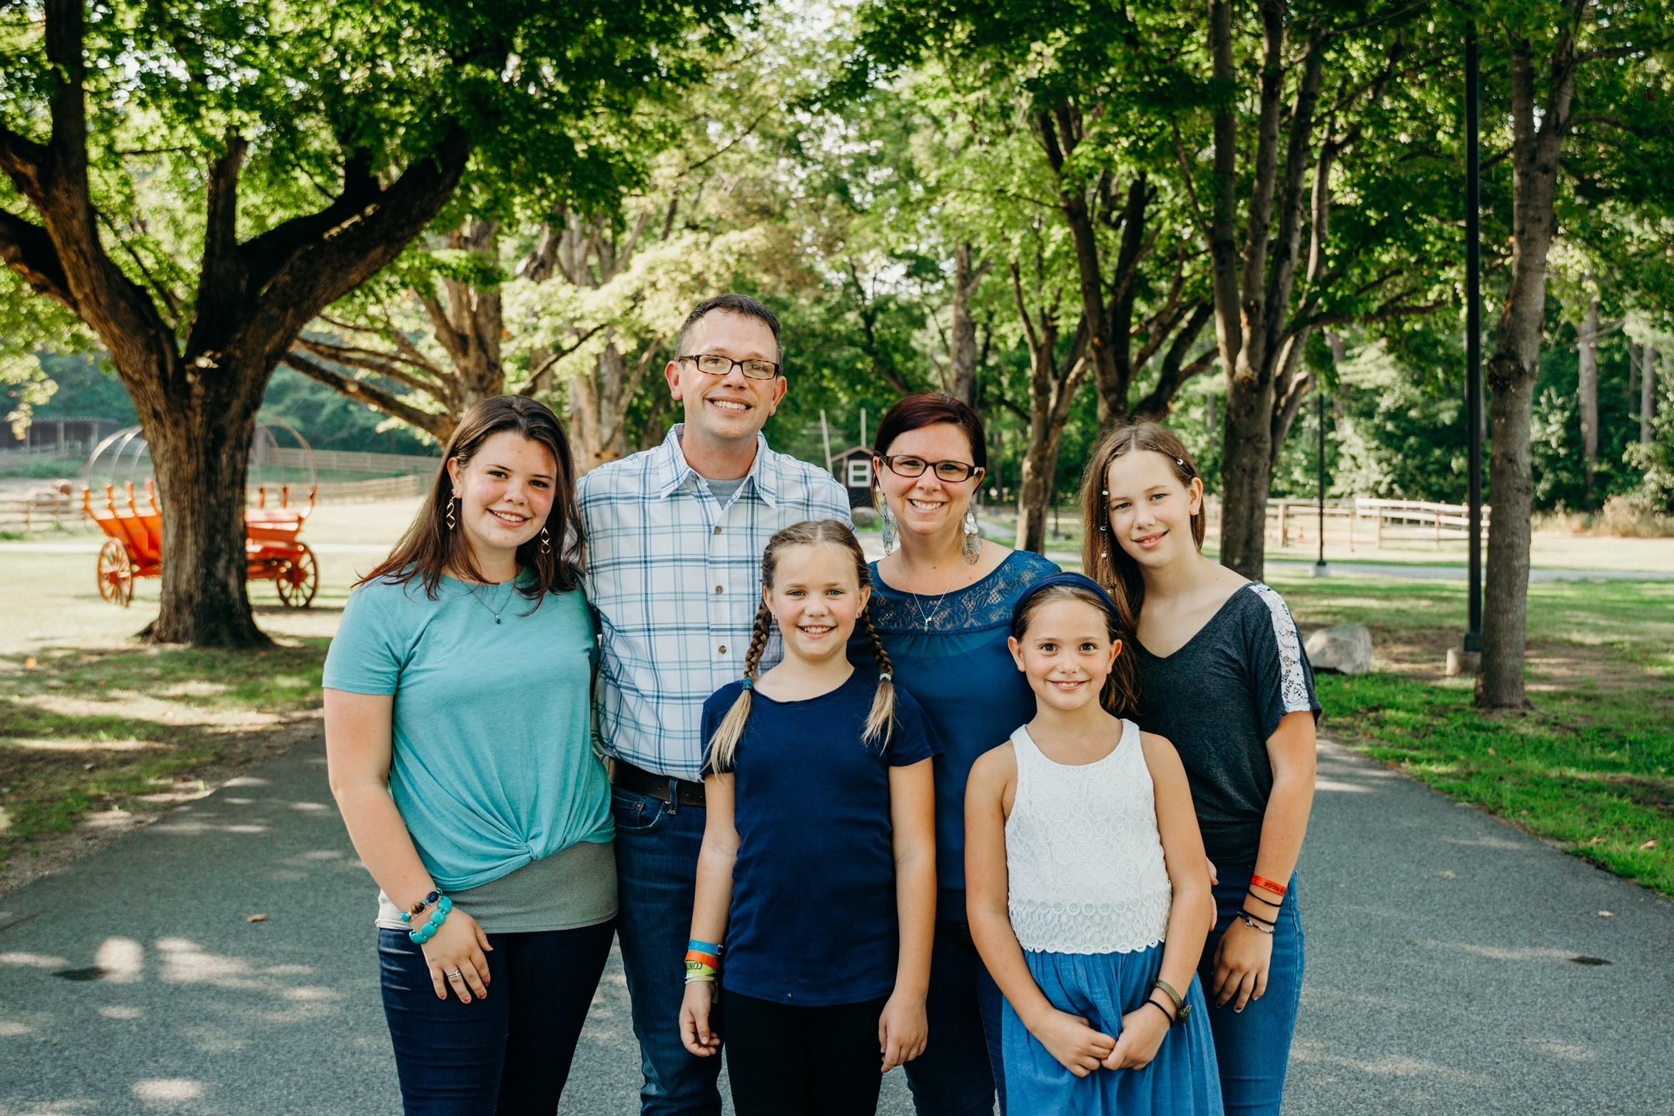
<path id="1" fill-rule="evenodd" d="M 872 1116 L 884 1083 L 877 1017 L 889 997 L 788 1007 L 725 992 L 727 1078 L 738 1116 Z"/>

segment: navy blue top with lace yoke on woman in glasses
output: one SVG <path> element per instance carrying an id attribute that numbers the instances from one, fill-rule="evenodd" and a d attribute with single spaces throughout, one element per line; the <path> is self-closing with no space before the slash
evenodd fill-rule
<path id="1" fill-rule="evenodd" d="M 1035 716 L 1035 693 L 1006 649 L 1011 607 L 1024 589 L 1056 572 L 1040 554 L 1013 550 L 988 577 L 937 599 L 889 587 L 872 562 L 872 624 L 896 681 L 917 698 L 944 748 L 936 756 L 936 917 L 944 922 L 966 920 L 964 783 L 971 766 Z M 850 661 L 855 669 L 876 669 L 864 636 L 850 648 Z"/>

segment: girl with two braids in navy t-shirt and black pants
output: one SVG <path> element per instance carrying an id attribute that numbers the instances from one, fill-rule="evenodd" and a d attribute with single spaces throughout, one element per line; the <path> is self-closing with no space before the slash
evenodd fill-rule
<path id="1" fill-rule="evenodd" d="M 708 817 L 680 1034 L 720 1054 L 725 985 L 738 1116 L 876 1113 L 881 1074 L 926 1046 L 941 745 L 894 684 L 870 592 L 845 524 L 780 530 L 745 676 L 703 704 Z M 775 626 L 785 656 L 758 678 Z M 849 663 L 855 626 L 876 676 Z"/>

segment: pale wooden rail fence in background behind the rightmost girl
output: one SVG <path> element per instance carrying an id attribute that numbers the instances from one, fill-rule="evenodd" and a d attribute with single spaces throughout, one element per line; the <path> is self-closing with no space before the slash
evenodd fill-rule
<path id="1" fill-rule="evenodd" d="M 1490 507 L 1481 509 L 1483 540 L 1488 537 Z M 1281 547 L 1319 545 L 1319 500 L 1267 500 L 1267 540 Z M 1220 500 L 1209 499 L 1209 537 L 1220 530 Z M 1326 500 L 1326 545 L 1349 550 L 1430 545 L 1470 540 L 1470 509 L 1463 504 L 1431 500 L 1384 500 L 1354 497 Z"/>

